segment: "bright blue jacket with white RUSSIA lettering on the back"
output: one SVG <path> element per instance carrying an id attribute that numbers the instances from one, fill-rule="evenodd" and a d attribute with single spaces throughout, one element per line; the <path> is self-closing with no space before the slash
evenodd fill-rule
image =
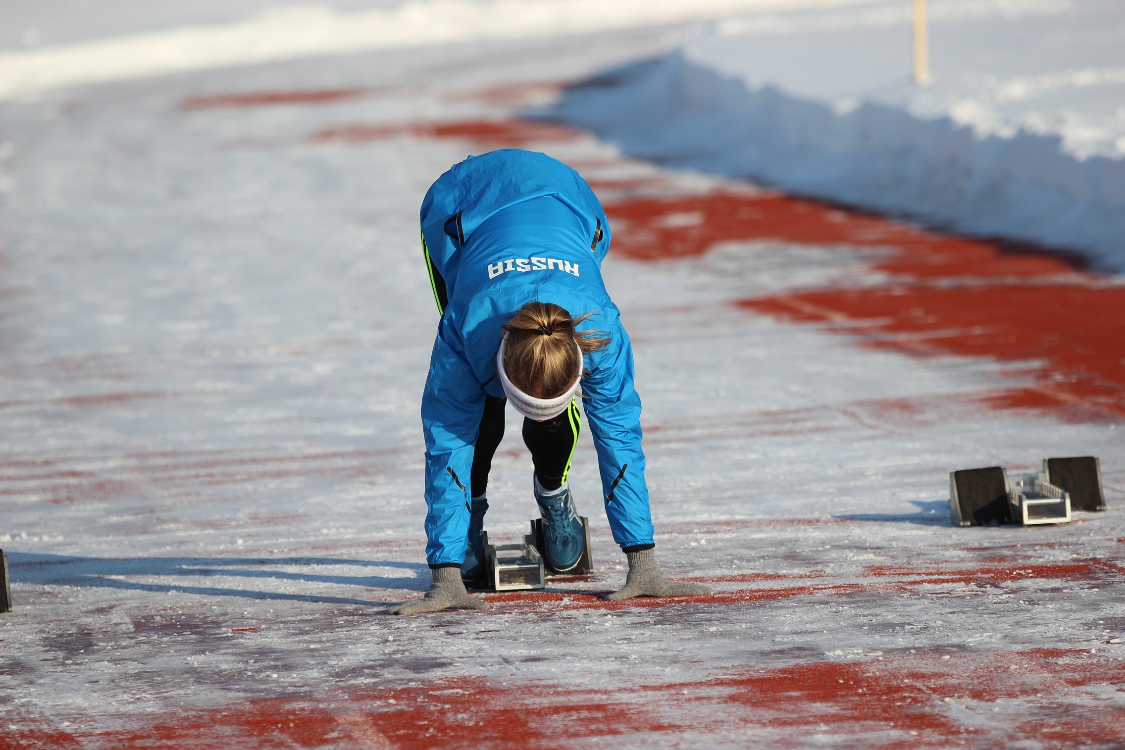
<path id="1" fill-rule="evenodd" d="M 501 325 L 532 300 L 555 302 L 574 317 L 593 313 L 582 329 L 611 338 L 585 356 L 582 404 L 603 498 L 620 477 L 605 505 L 613 539 L 621 546 L 651 543 L 632 349 L 602 282 L 610 225 L 590 186 L 544 154 L 469 156 L 426 192 L 422 243 L 449 300 L 422 397 L 430 564 L 465 559 L 469 473 L 485 394 L 504 395 L 495 377 Z"/>

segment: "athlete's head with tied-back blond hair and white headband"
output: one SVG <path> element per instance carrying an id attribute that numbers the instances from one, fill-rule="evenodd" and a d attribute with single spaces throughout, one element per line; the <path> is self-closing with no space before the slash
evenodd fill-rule
<path id="1" fill-rule="evenodd" d="M 595 333 L 575 331 L 590 315 L 574 319 L 551 302 L 528 302 L 504 324 L 503 374 L 537 399 L 556 399 L 577 387 L 582 355 L 609 343 Z"/>

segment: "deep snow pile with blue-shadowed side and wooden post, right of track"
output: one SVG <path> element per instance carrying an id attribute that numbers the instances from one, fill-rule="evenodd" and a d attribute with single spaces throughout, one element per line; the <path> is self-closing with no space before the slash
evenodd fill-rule
<path id="1" fill-rule="evenodd" d="M 720 21 L 554 115 L 632 156 L 1125 269 L 1125 3 L 932 0 L 925 88 L 909 6 Z"/>

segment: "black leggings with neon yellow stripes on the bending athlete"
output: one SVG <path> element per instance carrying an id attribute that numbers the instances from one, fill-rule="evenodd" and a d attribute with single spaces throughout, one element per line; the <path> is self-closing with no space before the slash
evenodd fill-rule
<path id="1" fill-rule="evenodd" d="M 430 259 L 430 251 L 425 247 L 424 241 L 422 247 L 438 311 L 444 313 L 446 306 L 449 305 L 446 280 L 441 278 L 438 266 Z M 480 417 L 480 432 L 472 453 L 470 481 L 472 497 L 480 497 L 488 489 L 492 459 L 496 454 L 500 441 L 504 437 L 505 404 L 507 404 L 506 398 L 485 396 L 485 413 Z M 546 422 L 523 418 L 523 444 L 531 451 L 531 461 L 536 464 L 536 478 L 543 489 L 558 489 L 566 481 L 580 430 L 582 413 L 577 401 L 570 401 L 562 414 Z"/>

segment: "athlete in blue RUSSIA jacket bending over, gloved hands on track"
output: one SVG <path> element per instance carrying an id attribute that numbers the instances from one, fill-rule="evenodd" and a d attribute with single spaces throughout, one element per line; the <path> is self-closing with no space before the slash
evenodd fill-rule
<path id="1" fill-rule="evenodd" d="M 567 485 L 590 422 L 613 540 L 634 596 L 710 589 L 656 567 L 629 336 L 602 282 L 610 225 L 590 186 L 539 153 L 494 151 L 442 174 L 422 201 L 422 249 L 441 313 L 422 396 L 430 591 L 392 614 L 484 609 L 482 530 L 505 404 L 523 415 L 543 555 L 574 569 L 585 533 Z M 580 405 L 580 406 L 579 406 Z"/>

